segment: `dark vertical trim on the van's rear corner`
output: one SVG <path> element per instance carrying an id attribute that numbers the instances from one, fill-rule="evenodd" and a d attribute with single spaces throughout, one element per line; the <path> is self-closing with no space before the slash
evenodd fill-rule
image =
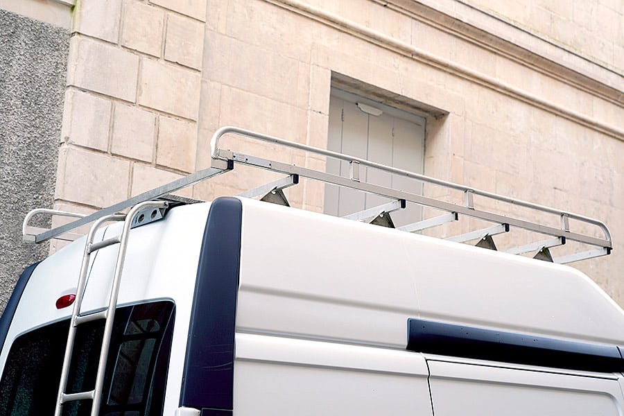
<path id="1" fill-rule="evenodd" d="M 242 221 L 240 200 L 226 197 L 212 202 L 197 270 L 180 406 L 233 408 Z"/>

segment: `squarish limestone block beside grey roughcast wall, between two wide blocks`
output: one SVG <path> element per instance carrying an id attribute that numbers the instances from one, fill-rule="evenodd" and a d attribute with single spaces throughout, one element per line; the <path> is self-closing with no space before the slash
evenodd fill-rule
<path id="1" fill-rule="evenodd" d="M 69 143 L 108 150 L 112 103 L 78 89 L 67 89 L 61 137 Z"/>

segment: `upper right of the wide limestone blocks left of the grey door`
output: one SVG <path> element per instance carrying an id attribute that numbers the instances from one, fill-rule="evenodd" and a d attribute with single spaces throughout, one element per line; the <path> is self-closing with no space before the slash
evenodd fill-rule
<path id="1" fill-rule="evenodd" d="M 200 75 L 191 69 L 145 58 L 141 67 L 139 104 L 197 120 Z"/>

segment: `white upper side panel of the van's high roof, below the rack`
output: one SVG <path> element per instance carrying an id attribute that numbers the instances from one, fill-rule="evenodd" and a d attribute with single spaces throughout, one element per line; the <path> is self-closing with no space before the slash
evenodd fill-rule
<path id="1" fill-rule="evenodd" d="M 623 311 L 567 266 L 252 200 L 241 256 L 241 331 L 404 348 L 411 317 L 624 344 Z"/>

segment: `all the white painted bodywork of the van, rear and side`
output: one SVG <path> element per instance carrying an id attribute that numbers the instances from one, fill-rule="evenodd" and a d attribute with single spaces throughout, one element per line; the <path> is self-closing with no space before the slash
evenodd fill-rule
<path id="1" fill-rule="evenodd" d="M 622 414 L 617 374 L 405 350 L 408 318 L 624 345 L 623 311 L 582 273 L 241 200 L 235 415 L 431 415 L 430 373 L 436 415 Z M 208 210 L 209 204 L 177 207 L 164 220 L 132 229 L 128 241 L 119 304 L 175 302 L 164 415 L 192 414 L 177 406 Z M 98 239 L 120 229 L 107 227 Z M 19 334 L 67 318 L 69 308 L 54 304 L 76 290 L 83 243 L 35 269 L 0 364 Z M 115 254 L 113 247 L 98 250 L 84 310 L 105 306 Z"/>

